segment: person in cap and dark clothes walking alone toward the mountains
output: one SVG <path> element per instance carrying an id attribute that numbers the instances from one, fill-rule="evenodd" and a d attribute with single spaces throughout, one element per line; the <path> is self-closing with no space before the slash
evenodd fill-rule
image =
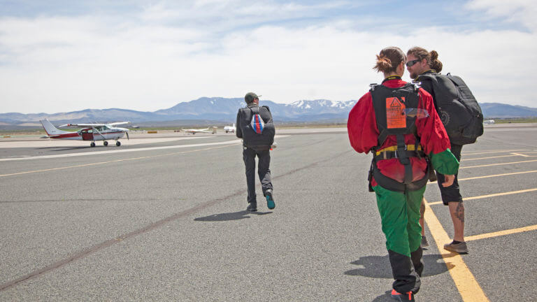
<path id="1" fill-rule="evenodd" d="M 248 208 L 257 211 L 255 194 L 255 157 L 259 159 L 257 173 L 261 181 L 266 206 L 273 210 L 276 207 L 272 195 L 271 181 L 271 145 L 274 142 L 275 128 L 271 110 L 268 106 L 259 107 L 259 96 L 248 92 L 244 96 L 246 107 L 238 110 L 236 136 L 243 139 L 243 160 L 246 169 L 246 185 L 248 185 Z"/>

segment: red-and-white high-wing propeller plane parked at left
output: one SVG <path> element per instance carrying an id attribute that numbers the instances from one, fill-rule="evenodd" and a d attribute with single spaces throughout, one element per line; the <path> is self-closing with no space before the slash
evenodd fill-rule
<path id="1" fill-rule="evenodd" d="M 59 139 L 70 139 L 76 141 L 92 141 L 90 146 L 95 147 L 95 141 L 103 141 L 103 145 L 108 145 L 108 140 L 115 140 L 115 145 L 118 147 L 121 145 L 118 139 L 122 138 L 127 134 L 127 139 L 129 139 L 129 129 L 116 127 L 120 124 L 128 124 L 129 122 L 114 122 L 110 124 L 64 124 L 62 127 L 77 127 L 83 128 L 78 131 L 69 132 L 57 129 L 54 125 L 47 119 L 40 120 L 47 136 L 44 138 L 59 138 Z"/>

